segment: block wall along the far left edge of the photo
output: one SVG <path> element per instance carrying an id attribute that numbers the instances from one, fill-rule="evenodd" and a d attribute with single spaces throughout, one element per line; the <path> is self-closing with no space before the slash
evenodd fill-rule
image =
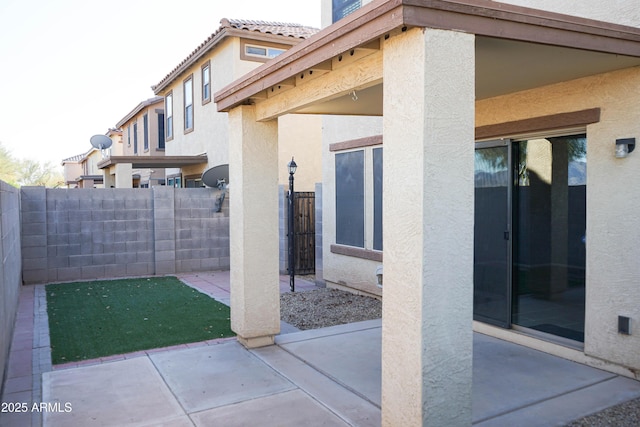
<path id="1" fill-rule="evenodd" d="M 20 294 L 20 192 L 0 181 L 0 385 L 4 382 Z"/>

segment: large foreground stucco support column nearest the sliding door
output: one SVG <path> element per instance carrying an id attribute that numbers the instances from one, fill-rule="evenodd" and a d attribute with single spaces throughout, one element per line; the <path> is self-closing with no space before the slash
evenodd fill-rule
<path id="1" fill-rule="evenodd" d="M 474 35 L 384 45 L 382 424 L 471 425 Z"/>

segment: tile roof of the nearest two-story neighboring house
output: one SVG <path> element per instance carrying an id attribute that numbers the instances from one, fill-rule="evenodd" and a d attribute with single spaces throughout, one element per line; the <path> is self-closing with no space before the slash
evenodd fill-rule
<path id="1" fill-rule="evenodd" d="M 166 86 L 167 83 L 177 77 L 192 61 L 197 60 L 211 47 L 215 46 L 215 44 L 217 44 L 217 41 L 215 40 L 221 37 L 222 33 L 227 30 L 242 30 L 247 32 L 272 34 L 275 36 L 294 39 L 307 39 L 320 31 L 318 28 L 307 27 L 301 24 L 223 18 L 220 20 L 220 27 L 213 34 L 200 43 L 197 48 L 183 59 L 178 66 L 171 70 L 171 72 L 167 74 L 157 85 L 151 86 L 151 89 L 155 92 L 156 90 L 160 90 Z"/>

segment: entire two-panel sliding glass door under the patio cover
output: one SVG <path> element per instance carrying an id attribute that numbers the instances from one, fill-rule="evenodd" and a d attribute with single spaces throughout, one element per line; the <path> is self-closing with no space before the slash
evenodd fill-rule
<path id="1" fill-rule="evenodd" d="M 586 135 L 476 144 L 474 318 L 584 341 Z"/>

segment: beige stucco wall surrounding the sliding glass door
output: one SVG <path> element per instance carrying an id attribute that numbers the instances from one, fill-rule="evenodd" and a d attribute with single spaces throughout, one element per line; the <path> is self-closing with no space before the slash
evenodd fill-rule
<path id="1" fill-rule="evenodd" d="M 640 369 L 640 156 L 614 157 L 617 138 L 640 141 L 640 68 L 483 100 L 476 126 L 600 108 L 587 127 L 587 294 L 585 353 Z M 508 135 L 505 135 L 508 136 Z M 632 319 L 632 335 L 617 332 L 618 315 Z M 634 326 L 636 328 L 634 329 Z"/>

